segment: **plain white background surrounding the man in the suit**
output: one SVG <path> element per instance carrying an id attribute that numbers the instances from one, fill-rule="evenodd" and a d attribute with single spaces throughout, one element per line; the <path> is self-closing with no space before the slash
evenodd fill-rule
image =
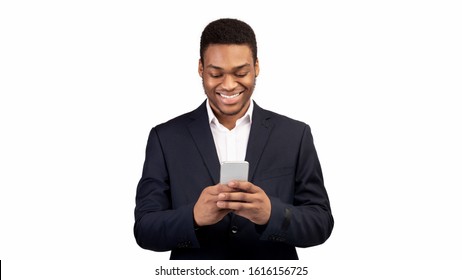
<path id="1" fill-rule="evenodd" d="M 335 228 L 298 251 L 311 279 L 460 277 L 461 14 L 441 0 L 0 2 L 2 273 L 152 279 L 169 264 L 132 233 L 146 140 L 205 99 L 200 34 L 233 17 L 257 35 L 254 100 L 312 128 Z"/>

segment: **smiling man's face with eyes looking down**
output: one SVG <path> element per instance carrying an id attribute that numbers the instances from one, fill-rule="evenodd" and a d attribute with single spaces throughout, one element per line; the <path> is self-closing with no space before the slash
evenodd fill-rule
<path id="1" fill-rule="evenodd" d="M 210 106 L 221 123 L 233 123 L 250 106 L 259 73 L 258 60 L 246 45 L 210 45 L 199 60 L 199 75 Z"/>

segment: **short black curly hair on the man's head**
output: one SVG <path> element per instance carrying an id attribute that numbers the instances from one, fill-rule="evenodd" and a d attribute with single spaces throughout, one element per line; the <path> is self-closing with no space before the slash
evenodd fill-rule
<path id="1" fill-rule="evenodd" d="M 257 61 L 257 39 L 252 27 L 231 18 L 222 18 L 209 23 L 202 31 L 200 58 L 204 63 L 204 53 L 209 45 L 247 45 L 252 50 L 253 62 Z"/>

